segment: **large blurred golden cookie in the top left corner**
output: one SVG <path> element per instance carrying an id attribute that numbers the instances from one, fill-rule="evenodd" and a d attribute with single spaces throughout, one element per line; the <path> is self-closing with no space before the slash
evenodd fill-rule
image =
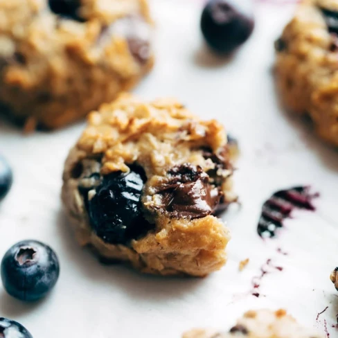
<path id="1" fill-rule="evenodd" d="M 62 127 L 153 64 L 147 0 L 0 0 L 0 112 Z"/>

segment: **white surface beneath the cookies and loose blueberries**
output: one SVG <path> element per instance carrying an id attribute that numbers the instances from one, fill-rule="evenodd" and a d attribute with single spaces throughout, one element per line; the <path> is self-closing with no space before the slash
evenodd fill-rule
<path id="1" fill-rule="evenodd" d="M 208 54 L 199 33 L 202 3 L 153 0 L 157 64 L 136 89 L 146 99 L 175 96 L 204 118 L 217 118 L 240 141 L 235 190 L 242 208 L 223 217 L 232 237 L 229 263 L 204 279 L 141 276 L 100 265 L 80 249 L 62 213 L 63 161 L 83 123 L 57 132 L 20 134 L 0 127 L 0 152 L 15 174 L 0 205 L 0 257 L 11 244 L 42 240 L 60 257 L 54 292 L 36 304 L 11 299 L 0 286 L 0 317 L 23 323 L 35 338 L 179 337 L 202 326 L 226 329 L 251 308 L 287 308 L 299 321 L 338 337 L 338 298 L 329 280 L 338 259 L 338 154 L 309 125 L 278 107 L 272 80 L 273 41 L 292 5 L 256 3 L 253 36 L 224 61 Z M 256 233 L 260 208 L 275 190 L 310 184 L 321 193 L 316 213 L 296 212 L 276 240 Z M 276 251 L 281 247 L 288 254 Z M 250 263 L 243 272 L 238 264 Z M 282 272 L 267 274 L 259 298 L 251 280 L 271 258 Z M 328 306 L 316 321 L 317 313 Z"/>

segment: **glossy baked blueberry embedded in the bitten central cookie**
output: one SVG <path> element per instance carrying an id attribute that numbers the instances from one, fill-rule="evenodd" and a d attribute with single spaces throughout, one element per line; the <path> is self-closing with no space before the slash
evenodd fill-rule
<path id="1" fill-rule="evenodd" d="M 145 175 L 141 168 L 103 177 L 88 200 L 91 226 L 98 237 L 112 244 L 126 244 L 150 229 L 141 211 Z M 90 195 L 90 193 L 89 193 Z"/>

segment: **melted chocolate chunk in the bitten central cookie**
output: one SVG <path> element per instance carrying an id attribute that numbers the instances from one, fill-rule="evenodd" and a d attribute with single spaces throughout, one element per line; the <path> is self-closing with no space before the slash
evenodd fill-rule
<path id="1" fill-rule="evenodd" d="M 211 215 L 220 203 L 222 192 L 211 186 L 200 167 L 188 163 L 168 172 L 169 183 L 159 190 L 164 210 L 170 217 L 201 218 Z"/>

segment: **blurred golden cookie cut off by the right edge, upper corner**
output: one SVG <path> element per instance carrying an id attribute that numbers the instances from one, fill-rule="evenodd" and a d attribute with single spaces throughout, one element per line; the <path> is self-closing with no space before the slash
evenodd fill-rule
<path id="1" fill-rule="evenodd" d="M 338 145 L 338 1 L 305 0 L 276 41 L 276 82 L 288 109 Z"/>

